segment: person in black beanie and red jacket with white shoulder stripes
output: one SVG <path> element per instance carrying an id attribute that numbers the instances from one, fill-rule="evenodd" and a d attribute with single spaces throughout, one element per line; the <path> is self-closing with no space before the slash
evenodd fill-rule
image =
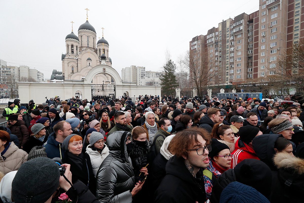
<path id="1" fill-rule="evenodd" d="M 259 159 L 253 150 L 252 140 L 262 134 L 259 128 L 252 125 L 240 127 L 240 138 L 235 143 L 235 149 L 231 153 L 231 155 L 234 155 L 231 160 L 231 168 L 234 169 L 244 159 Z"/>

